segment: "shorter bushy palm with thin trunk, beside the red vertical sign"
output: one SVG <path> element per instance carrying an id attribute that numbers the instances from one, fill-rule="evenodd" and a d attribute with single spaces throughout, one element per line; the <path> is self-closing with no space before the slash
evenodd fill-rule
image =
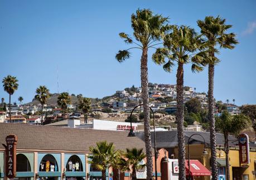
<path id="1" fill-rule="evenodd" d="M 216 128 L 224 134 L 224 151 L 226 153 L 226 179 L 230 179 L 229 171 L 229 134 L 237 135 L 243 129 L 250 127 L 250 118 L 243 114 L 231 116 L 224 111 L 219 118 L 216 118 Z"/>

